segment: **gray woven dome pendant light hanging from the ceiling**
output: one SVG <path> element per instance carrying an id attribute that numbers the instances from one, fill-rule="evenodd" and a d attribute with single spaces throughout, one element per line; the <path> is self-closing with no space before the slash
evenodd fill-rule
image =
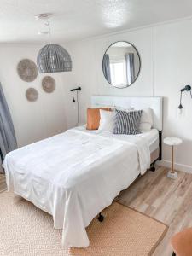
<path id="1" fill-rule="evenodd" d="M 45 15 L 37 15 L 38 19 Z M 46 16 L 46 18 L 48 15 Z M 49 21 L 45 23 L 49 26 Z M 49 26 L 50 36 L 50 26 Z M 46 44 L 38 52 L 37 57 L 38 71 L 40 73 L 57 73 L 72 71 L 72 59 L 67 50 L 59 44 Z"/>

